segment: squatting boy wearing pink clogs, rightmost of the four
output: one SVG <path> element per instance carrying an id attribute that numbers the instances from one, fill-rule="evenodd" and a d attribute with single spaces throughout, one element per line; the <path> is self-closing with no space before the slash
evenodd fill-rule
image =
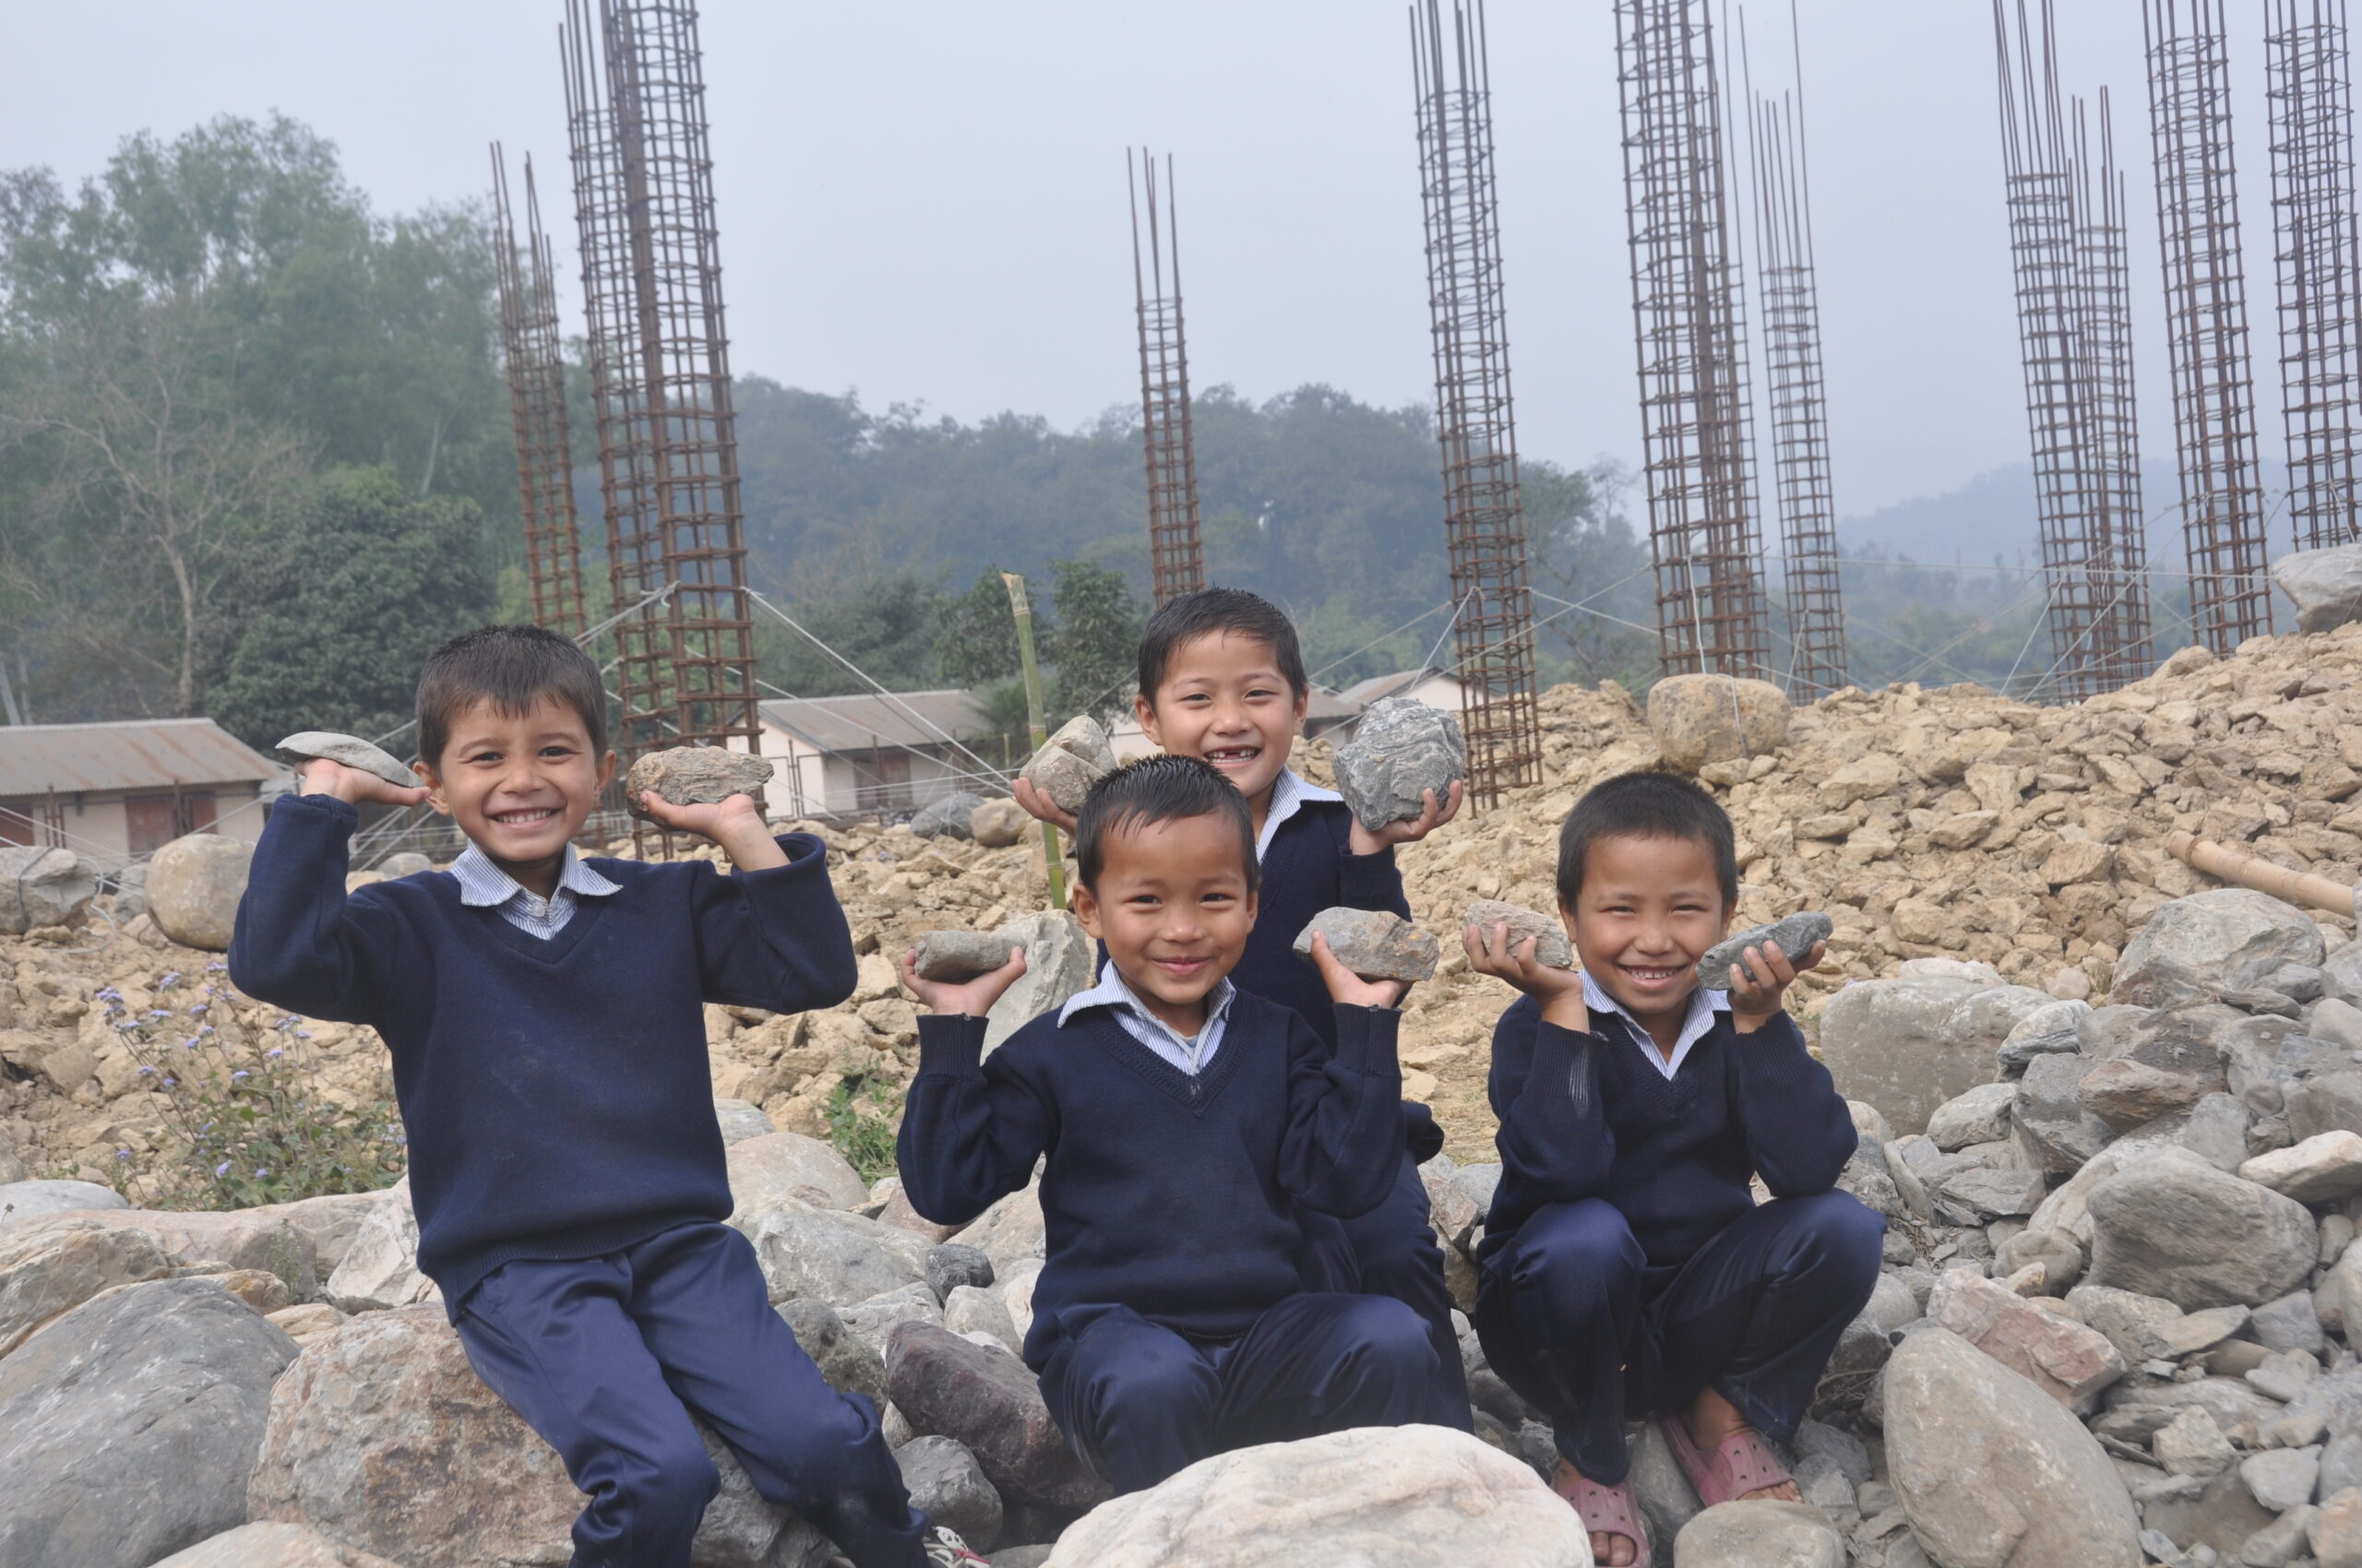
<path id="1" fill-rule="evenodd" d="M 1795 1436 L 1878 1282 L 1885 1221 L 1835 1190 L 1852 1117 L 1781 1011 L 1797 966 L 1748 947 L 1727 992 L 1698 982 L 1736 902 L 1715 798 L 1630 772 L 1559 834 L 1580 971 L 1538 963 L 1533 937 L 1512 949 L 1505 926 L 1464 933 L 1474 968 L 1523 992 L 1493 1030 L 1502 1176 L 1476 1334 L 1557 1429 L 1554 1490 L 1601 1566 L 1649 1561 L 1627 1415 L 1663 1417 L 1708 1504 L 1797 1497 L 1757 1433 Z"/>

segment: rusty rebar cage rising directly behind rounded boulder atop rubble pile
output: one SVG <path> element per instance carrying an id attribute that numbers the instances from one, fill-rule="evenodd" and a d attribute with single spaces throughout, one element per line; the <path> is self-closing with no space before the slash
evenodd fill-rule
<path id="1" fill-rule="evenodd" d="M 1616 0 L 1658 661 L 1776 680 L 1710 0 Z"/>

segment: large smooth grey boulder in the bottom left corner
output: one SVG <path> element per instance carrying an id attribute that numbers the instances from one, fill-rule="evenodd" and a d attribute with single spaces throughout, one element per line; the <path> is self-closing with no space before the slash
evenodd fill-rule
<path id="1" fill-rule="evenodd" d="M 246 1523 L 295 1341 L 213 1280 L 85 1301 L 0 1360 L 0 1568 L 146 1568 Z"/>

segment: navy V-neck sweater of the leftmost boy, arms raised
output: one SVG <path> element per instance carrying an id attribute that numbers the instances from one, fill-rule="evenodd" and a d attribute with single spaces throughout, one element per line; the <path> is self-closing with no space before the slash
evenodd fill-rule
<path id="1" fill-rule="evenodd" d="M 510 1259 L 631 1247 L 730 1219 L 706 1001 L 794 1013 L 853 994 L 853 935 L 817 838 L 789 864 L 593 860 L 550 940 L 458 902 L 449 871 L 345 895 L 357 815 L 291 796 L 255 845 L 229 978 L 293 1013 L 366 1023 L 394 1058 L 418 1268 L 456 1315 Z"/>

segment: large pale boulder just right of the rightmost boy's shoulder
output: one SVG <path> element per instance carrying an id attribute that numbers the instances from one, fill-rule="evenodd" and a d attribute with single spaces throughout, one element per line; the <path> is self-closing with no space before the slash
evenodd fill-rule
<path id="1" fill-rule="evenodd" d="M 2053 1001 L 1963 975 L 1857 980 L 1821 1013 L 1821 1060 L 1838 1091 L 1883 1110 L 1897 1136 L 1925 1131 L 1939 1105 L 2001 1077 L 2001 1041 Z"/>

